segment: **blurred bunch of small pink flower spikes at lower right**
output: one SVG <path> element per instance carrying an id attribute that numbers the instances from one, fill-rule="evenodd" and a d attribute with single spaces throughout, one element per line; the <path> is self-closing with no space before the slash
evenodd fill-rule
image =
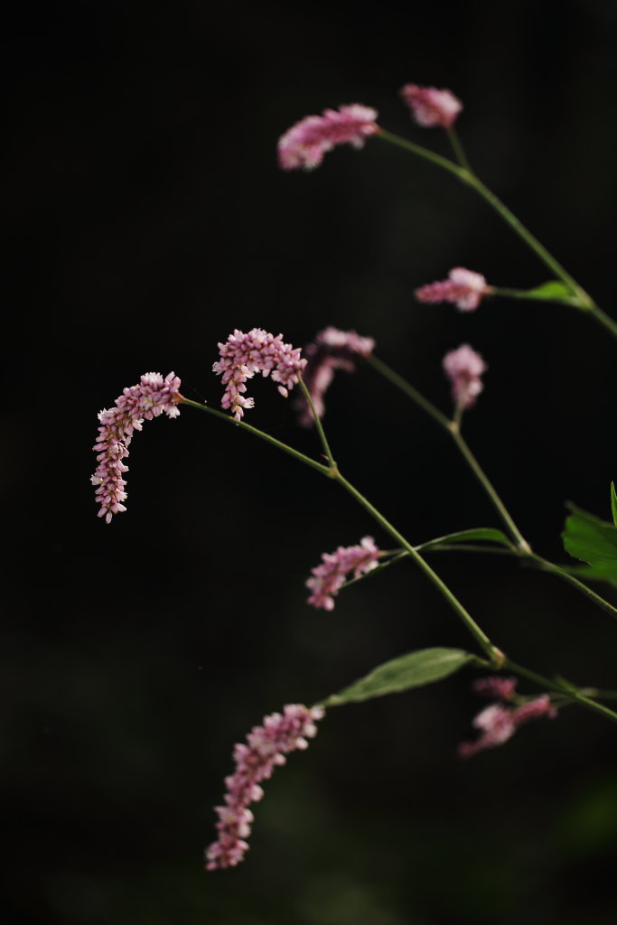
<path id="1" fill-rule="evenodd" d="M 515 678 L 489 677 L 475 681 L 473 689 L 483 697 L 497 697 L 497 703 L 491 703 L 475 717 L 473 725 L 480 731 L 475 742 L 463 742 L 458 748 L 459 758 L 472 758 L 486 748 L 503 745 L 525 722 L 539 720 L 543 716 L 554 719 L 557 710 L 550 702 L 548 694 L 542 694 L 533 700 L 527 700 L 519 707 L 512 707 L 515 696 Z"/>

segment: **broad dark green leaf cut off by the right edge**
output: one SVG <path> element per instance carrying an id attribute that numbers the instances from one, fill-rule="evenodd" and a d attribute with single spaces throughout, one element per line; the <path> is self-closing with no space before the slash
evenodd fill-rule
<path id="1" fill-rule="evenodd" d="M 587 562 L 589 569 L 577 570 L 587 578 L 601 578 L 617 586 L 617 526 L 594 514 L 568 505 L 572 511 L 561 534 L 563 547 L 574 559 Z"/>

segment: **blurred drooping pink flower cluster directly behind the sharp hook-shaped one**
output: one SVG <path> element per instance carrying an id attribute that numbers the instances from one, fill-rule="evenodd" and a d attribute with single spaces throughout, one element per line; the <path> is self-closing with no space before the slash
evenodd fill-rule
<path id="1" fill-rule="evenodd" d="M 374 348 L 373 338 L 363 338 L 355 331 L 341 331 L 338 327 L 324 328 L 312 343 L 306 345 L 306 369 L 302 379 L 311 394 L 315 412 L 319 417 L 323 417 L 326 412 L 324 395 L 332 382 L 335 370 L 344 369 L 347 373 L 352 373 L 355 370 L 355 362 L 359 359 L 365 360 Z M 308 402 L 303 397 L 298 398 L 296 407 L 302 427 L 310 427 L 315 423 Z"/>

